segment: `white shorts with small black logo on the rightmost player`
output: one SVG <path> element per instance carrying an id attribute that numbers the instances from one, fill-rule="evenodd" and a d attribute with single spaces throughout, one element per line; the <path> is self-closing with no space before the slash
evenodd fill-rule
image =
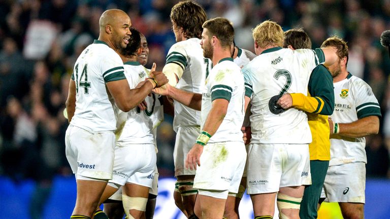
<path id="1" fill-rule="evenodd" d="M 324 182 L 329 202 L 365 203 L 365 163 L 349 163 L 330 166 Z"/>

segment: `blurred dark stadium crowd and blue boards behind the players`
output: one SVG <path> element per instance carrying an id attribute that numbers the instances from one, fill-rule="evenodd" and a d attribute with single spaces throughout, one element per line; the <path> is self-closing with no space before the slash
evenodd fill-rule
<path id="1" fill-rule="evenodd" d="M 3 218 L 67 218 L 76 186 L 64 155 L 68 122 L 62 116 L 79 53 L 99 35 L 104 10 L 119 8 L 149 43 L 149 62 L 162 69 L 175 43 L 169 14 L 178 1 L 0 0 L 0 204 Z M 348 42 L 348 71 L 364 79 L 380 105 L 380 133 L 367 138 L 366 218 L 385 218 L 390 204 L 387 179 L 390 148 L 388 51 L 379 42 L 390 29 L 390 0 L 199 0 L 209 18 L 235 26 L 236 44 L 253 51 L 251 28 L 271 19 L 284 30 L 303 27 L 313 48 L 328 36 Z M 160 192 L 155 218 L 175 217 L 172 199 L 172 118 L 158 128 Z M 164 186 L 163 186 L 164 185 Z M 171 185 L 171 186 L 169 186 Z M 383 207 L 381 207 L 383 206 Z M 248 197 L 242 218 L 250 218 Z M 337 205 L 322 218 L 340 218 Z M 42 214 L 42 216 L 40 216 Z M 244 215 L 245 214 L 245 215 Z"/>

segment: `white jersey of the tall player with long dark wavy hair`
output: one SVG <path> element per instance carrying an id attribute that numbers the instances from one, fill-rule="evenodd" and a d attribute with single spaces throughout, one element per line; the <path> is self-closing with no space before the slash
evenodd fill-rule
<path id="1" fill-rule="evenodd" d="M 202 93 L 206 79 L 206 69 L 211 64 L 210 59 L 203 57 L 201 40 L 190 38 L 174 44 L 168 52 L 167 62 L 180 65 L 184 72 L 176 88 L 192 92 Z M 199 126 L 200 112 L 191 109 L 178 101 L 174 101 L 175 117 L 173 128 L 177 131 L 181 126 Z"/>

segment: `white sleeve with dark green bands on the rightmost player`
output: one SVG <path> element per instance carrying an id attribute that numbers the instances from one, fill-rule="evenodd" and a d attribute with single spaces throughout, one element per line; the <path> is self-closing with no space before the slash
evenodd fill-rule
<path id="1" fill-rule="evenodd" d="M 362 119 L 369 116 L 381 117 L 380 106 L 371 87 L 363 80 L 355 81 L 353 85 L 354 92 L 356 92 L 354 100 L 358 118 Z"/>

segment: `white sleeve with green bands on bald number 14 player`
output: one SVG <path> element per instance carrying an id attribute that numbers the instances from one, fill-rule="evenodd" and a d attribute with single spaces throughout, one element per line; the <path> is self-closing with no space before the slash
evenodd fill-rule
<path id="1" fill-rule="evenodd" d="M 114 54 L 107 55 L 104 60 L 101 60 L 101 68 L 103 73 L 104 82 L 112 82 L 126 79 L 124 76 L 123 62 L 119 55 Z"/>

